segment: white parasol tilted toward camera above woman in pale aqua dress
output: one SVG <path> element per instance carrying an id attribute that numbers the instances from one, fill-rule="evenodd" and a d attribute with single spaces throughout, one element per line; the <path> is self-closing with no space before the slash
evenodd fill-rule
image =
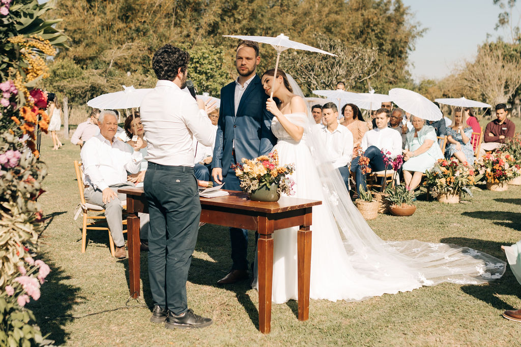
<path id="1" fill-rule="evenodd" d="M 389 96 L 394 104 L 416 117 L 428 121 L 439 121 L 443 118 L 438 106 L 416 92 L 403 88 L 393 88 L 389 91 Z"/>

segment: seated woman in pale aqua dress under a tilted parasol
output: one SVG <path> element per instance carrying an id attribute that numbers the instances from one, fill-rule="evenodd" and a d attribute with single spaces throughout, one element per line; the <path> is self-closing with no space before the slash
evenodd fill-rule
<path id="1" fill-rule="evenodd" d="M 425 124 L 425 119 L 413 116 L 413 129 L 407 133 L 403 151 L 403 179 L 412 189 L 421 181 L 421 175 L 432 168 L 443 153 L 438 145 L 436 130 Z"/>

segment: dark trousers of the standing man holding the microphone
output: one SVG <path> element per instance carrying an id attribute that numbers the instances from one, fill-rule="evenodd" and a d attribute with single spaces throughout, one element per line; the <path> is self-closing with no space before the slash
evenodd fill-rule
<path id="1" fill-rule="evenodd" d="M 148 162 L 144 190 L 150 214 L 148 277 L 152 299 L 179 315 L 188 310 L 188 270 L 201 217 L 193 168 Z"/>

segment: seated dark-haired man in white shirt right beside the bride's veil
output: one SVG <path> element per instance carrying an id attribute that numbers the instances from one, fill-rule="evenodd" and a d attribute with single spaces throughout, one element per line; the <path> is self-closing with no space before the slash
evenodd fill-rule
<path id="1" fill-rule="evenodd" d="M 326 126 L 322 132 L 326 141 L 326 150 L 334 168 L 340 171 L 345 187 L 349 190 L 349 164 L 353 156 L 353 134 L 338 123 L 338 109 L 333 102 L 322 107 Z"/>

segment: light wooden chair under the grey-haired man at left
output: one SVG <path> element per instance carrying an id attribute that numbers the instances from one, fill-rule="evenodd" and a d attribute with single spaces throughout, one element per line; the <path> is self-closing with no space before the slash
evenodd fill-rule
<path id="1" fill-rule="evenodd" d="M 83 214 L 83 223 L 81 228 L 81 252 L 85 253 L 86 240 L 87 240 L 87 229 L 90 230 L 107 230 L 108 232 L 108 241 L 110 247 L 110 254 L 114 256 L 114 240 L 112 239 L 112 235 L 110 235 L 110 230 L 107 226 L 99 226 L 101 224 L 106 223 L 107 219 L 104 214 L 105 213 L 103 207 L 94 205 L 92 203 L 85 201 L 85 196 L 83 191 L 86 187 L 83 183 L 83 170 L 81 162 L 77 160 L 74 161 L 74 168 L 76 170 L 76 178 L 78 180 L 78 190 L 80 192 L 80 204 L 78 205 L 78 211 L 74 219 L 76 220 L 80 213 Z M 93 215 L 89 215 L 89 212 L 93 213 Z M 92 219 L 93 222 L 87 223 L 87 220 Z M 127 219 L 123 216 L 123 225 L 127 225 Z M 123 230 L 123 233 L 126 233 L 127 230 Z"/>

